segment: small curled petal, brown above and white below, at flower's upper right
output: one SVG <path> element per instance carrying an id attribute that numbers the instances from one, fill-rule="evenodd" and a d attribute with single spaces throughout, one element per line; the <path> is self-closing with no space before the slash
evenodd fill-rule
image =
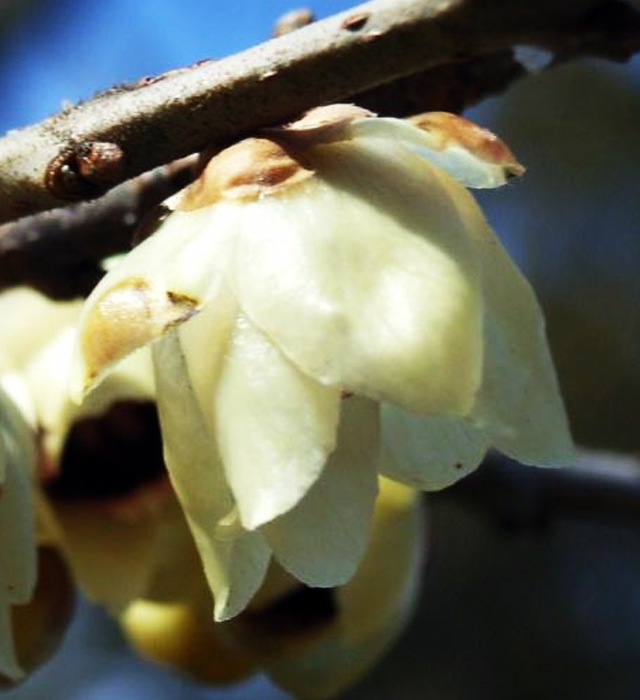
<path id="1" fill-rule="evenodd" d="M 359 119 L 354 138 L 396 139 L 465 187 L 500 187 L 524 168 L 495 134 L 448 112 L 426 112 L 411 120 Z"/>

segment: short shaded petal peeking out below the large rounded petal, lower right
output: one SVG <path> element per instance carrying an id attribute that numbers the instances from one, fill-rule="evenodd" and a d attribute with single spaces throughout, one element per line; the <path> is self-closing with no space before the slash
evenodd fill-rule
<path id="1" fill-rule="evenodd" d="M 425 491 L 443 489 L 472 472 L 488 447 L 482 431 L 464 418 L 414 416 L 384 406 L 382 426 L 390 453 L 382 473 Z"/>

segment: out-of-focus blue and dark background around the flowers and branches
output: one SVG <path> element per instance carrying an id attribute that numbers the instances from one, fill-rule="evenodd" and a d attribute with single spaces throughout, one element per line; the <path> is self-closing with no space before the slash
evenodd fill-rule
<path id="1" fill-rule="evenodd" d="M 317 0 L 321 18 L 347 0 Z M 263 41 L 285 0 L 3 0 L 0 131 L 116 83 Z M 640 452 L 640 59 L 540 72 L 467 116 L 502 136 L 527 174 L 482 193 L 525 270 L 548 331 L 576 440 Z M 438 495 L 420 611 L 345 697 L 636 700 L 640 528 L 556 518 L 506 528 Z M 211 689 L 143 662 L 84 603 L 61 653 L 7 700 L 275 700 L 265 678 Z"/>

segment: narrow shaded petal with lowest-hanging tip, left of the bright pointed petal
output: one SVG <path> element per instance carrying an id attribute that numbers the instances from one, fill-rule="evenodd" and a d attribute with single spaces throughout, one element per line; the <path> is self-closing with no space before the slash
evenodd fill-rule
<path id="1" fill-rule="evenodd" d="M 270 551 L 263 535 L 246 532 L 197 402 L 178 331 L 153 347 L 164 455 L 214 596 L 214 615 L 240 612 L 260 587 Z"/>

